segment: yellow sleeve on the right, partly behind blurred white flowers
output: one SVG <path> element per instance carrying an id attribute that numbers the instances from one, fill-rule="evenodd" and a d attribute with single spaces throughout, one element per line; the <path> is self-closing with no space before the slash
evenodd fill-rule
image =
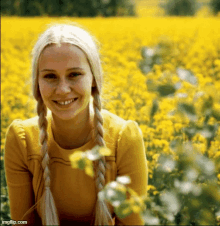
<path id="1" fill-rule="evenodd" d="M 142 132 L 134 121 L 127 121 L 119 134 L 116 164 L 117 176 L 129 176 L 131 183 L 128 186 L 138 195 L 145 195 L 148 184 L 147 159 Z M 116 216 L 115 225 L 144 225 L 144 221 L 139 214 L 133 213 L 123 219 Z"/>

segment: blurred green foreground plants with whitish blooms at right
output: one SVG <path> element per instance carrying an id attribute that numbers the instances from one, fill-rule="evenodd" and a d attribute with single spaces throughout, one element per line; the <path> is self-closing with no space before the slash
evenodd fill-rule
<path id="1" fill-rule="evenodd" d="M 156 93 L 148 126 L 157 129 L 155 116 L 157 111 L 160 111 L 164 98 L 176 98 L 177 101 L 176 108 L 171 110 L 168 117 L 174 120 L 182 117 L 182 120 L 185 118 L 187 122 L 181 131 L 170 139 L 168 148 L 171 153 L 154 155 L 156 164 L 149 180 L 148 195 L 139 197 L 127 186 L 129 178 L 118 177 L 116 181 L 105 186 L 99 197 L 112 204 L 118 217 L 124 218 L 132 212 L 140 213 L 146 225 L 217 225 L 220 224 L 220 183 L 217 173 L 220 171 L 220 152 L 215 149 L 215 157 L 210 157 L 213 154 L 212 143 L 220 135 L 220 110 L 214 108 L 214 98 L 209 94 L 203 96 L 204 93 L 203 99 L 199 100 L 201 106 L 198 109 L 196 99 L 201 92 L 198 91 L 198 79 L 189 70 L 177 68 L 175 74 L 162 72 L 157 80 L 151 77 L 150 72 L 154 65 L 162 65 L 163 59 L 166 60 L 164 49 L 167 52 L 170 46 L 168 47 L 167 43 L 159 43 L 155 48 L 144 47 L 141 51 L 143 60 L 140 62 L 140 68 L 146 74 L 147 89 Z M 174 76 L 175 83 L 172 81 Z M 186 95 L 178 92 L 184 82 L 189 83 L 191 89 L 197 90 L 193 94 L 193 101 L 187 100 Z M 190 90 L 187 94 L 190 94 Z M 219 101 L 220 97 L 216 99 L 217 103 Z M 204 142 L 203 148 L 199 139 Z M 162 151 L 165 151 L 165 148 L 165 145 L 162 145 Z M 109 154 L 108 150 L 101 151 L 103 155 Z M 76 168 L 80 168 L 80 165 L 86 168 L 87 164 L 82 162 L 97 158 L 96 148 L 89 153 L 89 158 L 85 159 L 79 158 L 79 153 L 72 155 L 71 161 Z"/>

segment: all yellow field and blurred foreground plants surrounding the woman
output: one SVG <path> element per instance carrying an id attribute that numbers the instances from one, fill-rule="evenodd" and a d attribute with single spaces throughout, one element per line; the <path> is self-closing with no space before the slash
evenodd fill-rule
<path id="1" fill-rule="evenodd" d="M 45 24 L 64 20 L 2 18 L 1 166 L 6 128 L 16 118 L 36 115 L 30 82 L 33 43 Z M 127 200 L 127 213 L 139 212 L 146 224 L 218 224 L 218 19 L 85 18 L 74 22 L 89 28 L 102 44 L 104 108 L 138 122 L 149 167 L 147 197 L 129 190 L 126 178 L 106 185 L 100 197 L 108 199 L 105 191 L 109 186 L 120 186 L 121 194 L 126 191 L 133 197 L 128 201 L 122 195 L 120 203 Z M 102 154 L 107 155 L 105 151 Z M 80 153 L 78 159 L 82 159 Z M 86 163 L 85 173 L 92 176 L 91 164 Z M 1 216 L 7 220 L 10 214 L 3 167 L 1 175 Z M 174 202 L 167 202 L 170 197 Z M 124 217 L 120 210 L 116 206 L 118 216 Z"/>

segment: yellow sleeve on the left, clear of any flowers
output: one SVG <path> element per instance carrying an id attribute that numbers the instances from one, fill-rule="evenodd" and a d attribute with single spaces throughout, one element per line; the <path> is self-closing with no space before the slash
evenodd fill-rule
<path id="1" fill-rule="evenodd" d="M 4 167 L 8 187 L 11 219 L 21 221 L 25 212 L 34 204 L 32 174 L 27 165 L 25 131 L 21 120 L 14 120 L 6 134 Z M 36 224 L 36 213 L 23 220 Z"/>

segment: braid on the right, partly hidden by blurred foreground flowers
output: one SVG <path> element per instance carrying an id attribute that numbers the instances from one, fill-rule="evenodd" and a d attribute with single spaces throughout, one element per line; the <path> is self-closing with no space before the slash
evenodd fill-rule
<path id="1" fill-rule="evenodd" d="M 101 100 L 98 89 L 93 92 L 93 108 L 94 108 L 94 140 L 102 147 L 105 146 L 103 139 L 103 118 L 101 115 Z M 102 157 L 96 163 L 96 189 L 100 192 L 105 186 L 106 161 Z M 110 211 L 104 200 L 97 200 L 95 207 L 95 225 L 109 225 L 112 221 Z"/>

